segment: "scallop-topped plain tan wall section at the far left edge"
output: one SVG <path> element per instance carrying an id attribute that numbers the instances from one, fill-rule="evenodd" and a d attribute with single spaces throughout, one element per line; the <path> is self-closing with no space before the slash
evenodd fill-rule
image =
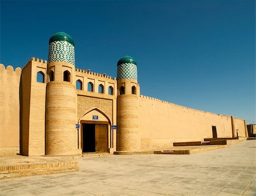
<path id="1" fill-rule="evenodd" d="M 0 148 L 5 147 L 8 154 L 19 152 L 20 74 L 19 67 L 0 64 Z"/>

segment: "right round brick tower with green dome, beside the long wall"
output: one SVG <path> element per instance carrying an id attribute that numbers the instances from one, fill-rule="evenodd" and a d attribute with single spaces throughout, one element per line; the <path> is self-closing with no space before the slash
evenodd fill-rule
<path id="1" fill-rule="evenodd" d="M 117 151 L 141 150 L 137 62 L 125 56 L 117 63 Z"/>

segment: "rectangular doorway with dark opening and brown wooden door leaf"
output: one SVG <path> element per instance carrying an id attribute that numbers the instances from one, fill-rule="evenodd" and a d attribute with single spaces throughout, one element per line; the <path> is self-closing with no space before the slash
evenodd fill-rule
<path id="1" fill-rule="evenodd" d="M 108 125 L 82 123 L 82 152 L 108 152 Z"/>

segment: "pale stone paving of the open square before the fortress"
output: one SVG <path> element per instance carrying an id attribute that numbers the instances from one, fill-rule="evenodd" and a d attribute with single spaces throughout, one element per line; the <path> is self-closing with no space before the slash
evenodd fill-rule
<path id="1" fill-rule="evenodd" d="M 256 195 L 256 140 L 192 155 L 82 157 L 80 171 L 0 180 L 0 195 Z"/>

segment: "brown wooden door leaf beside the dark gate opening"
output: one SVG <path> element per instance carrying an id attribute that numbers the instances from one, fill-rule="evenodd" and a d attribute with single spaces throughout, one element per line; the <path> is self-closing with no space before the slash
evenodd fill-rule
<path id="1" fill-rule="evenodd" d="M 96 152 L 108 152 L 108 126 L 95 125 Z"/>

